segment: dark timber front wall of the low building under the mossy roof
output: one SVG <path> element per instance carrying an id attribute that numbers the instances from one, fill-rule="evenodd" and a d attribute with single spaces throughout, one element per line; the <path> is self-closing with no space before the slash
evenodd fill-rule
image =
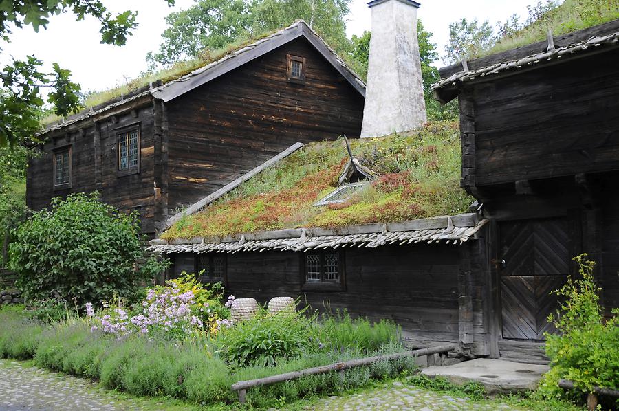
<path id="1" fill-rule="evenodd" d="M 345 249 L 345 291 L 303 291 L 303 253 L 227 254 L 226 291 L 262 303 L 301 296 L 321 311 L 347 309 L 372 320 L 394 320 L 411 346 L 464 340 L 478 355 L 487 355 L 487 288 L 479 255 L 484 247 L 470 241 Z M 171 258 L 174 275 L 195 271 L 194 254 Z"/>

